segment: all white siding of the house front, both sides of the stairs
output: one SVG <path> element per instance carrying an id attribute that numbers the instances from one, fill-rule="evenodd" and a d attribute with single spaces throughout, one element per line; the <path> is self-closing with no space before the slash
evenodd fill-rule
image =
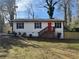
<path id="1" fill-rule="evenodd" d="M 62 28 L 56 28 L 56 34 L 57 33 L 62 33 L 61 38 L 63 38 L 63 22 L 62 22 Z M 40 32 L 41 30 L 43 30 L 45 27 L 48 26 L 48 22 L 42 22 L 42 28 L 41 29 L 35 29 L 34 28 L 34 22 L 24 22 L 24 29 L 17 29 L 16 28 L 16 22 L 13 23 L 13 31 L 15 32 L 21 32 L 27 33 L 27 36 L 29 36 L 29 34 L 32 34 L 32 36 L 38 36 L 38 32 Z M 55 26 L 55 23 L 52 22 L 52 26 Z"/>

